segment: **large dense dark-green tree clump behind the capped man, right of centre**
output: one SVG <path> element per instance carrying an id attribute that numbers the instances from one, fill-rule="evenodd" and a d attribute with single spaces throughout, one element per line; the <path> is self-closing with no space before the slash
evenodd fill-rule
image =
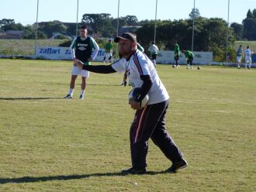
<path id="1" fill-rule="evenodd" d="M 137 40 L 145 49 L 154 37 L 154 21 L 147 22 L 137 29 Z M 229 29 L 229 43 L 234 44 L 233 29 Z M 227 38 L 227 22 L 223 19 L 195 20 L 194 50 L 213 51 L 216 60 L 224 60 Z M 192 19 L 157 21 L 156 44 L 161 49 L 173 50 L 174 41 L 178 40 L 181 49 L 190 50 L 192 42 Z"/>

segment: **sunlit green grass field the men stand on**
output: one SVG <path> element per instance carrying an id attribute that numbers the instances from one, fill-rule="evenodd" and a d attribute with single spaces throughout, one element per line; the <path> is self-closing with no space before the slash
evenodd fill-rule
<path id="1" fill-rule="evenodd" d="M 0 60 L 0 191 L 255 191 L 256 70 L 157 71 L 171 95 L 167 129 L 189 166 L 149 143 L 146 175 L 130 167 L 134 111 L 123 74 L 93 74 L 67 94 L 70 61 Z"/>

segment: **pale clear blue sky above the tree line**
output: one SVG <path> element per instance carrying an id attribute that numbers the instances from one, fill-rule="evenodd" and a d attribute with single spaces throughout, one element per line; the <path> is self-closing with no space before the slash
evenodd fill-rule
<path id="1" fill-rule="evenodd" d="M 117 18 L 118 0 L 39 0 L 38 22 L 59 20 L 78 22 L 85 13 L 109 13 Z M 119 0 L 119 16 L 136 15 L 137 19 L 154 19 L 156 0 Z M 0 0 L 0 19 L 15 19 L 22 25 L 36 22 L 37 0 Z M 157 0 L 157 19 L 187 19 L 194 0 Z M 195 8 L 206 18 L 227 20 L 228 0 L 195 0 Z M 256 9 L 256 0 L 230 0 L 230 23 L 242 23 L 248 9 Z"/>

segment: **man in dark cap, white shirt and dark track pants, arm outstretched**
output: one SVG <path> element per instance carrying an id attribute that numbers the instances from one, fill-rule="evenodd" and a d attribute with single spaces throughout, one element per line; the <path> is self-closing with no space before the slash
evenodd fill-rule
<path id="1" fill-rule="evenodd" d="M 154 64 L 144 53 L 137 50 L 137 39 L 132 33 L 123 33 L 114 41 L 119 43 L 119 53 L 123 56 L 120 60 L 108 66 L 88 66 L 82 65 L 81 62 L 77 62 L 76 65 L 100 74 L 126 71 L 131 86 L 140 87 L 140 94 L 134 100 L 129 101 L 131 108 L 136 110 L 130 127 L 132 167 L 123 170 L 122 173 L 146 173 L 149 139 L 152 139 L 154 144 L 171 160 L 172 165 L 166 170 L 167 172 L 174 173 L 185 168 L 188 163 L 165 129 L 165 114 L 168 109 L 169 95 L 158 77 Z M 141 108 L 140 102 L 147 94 L 149 96 L 148 104 L 145 108 Z"/>

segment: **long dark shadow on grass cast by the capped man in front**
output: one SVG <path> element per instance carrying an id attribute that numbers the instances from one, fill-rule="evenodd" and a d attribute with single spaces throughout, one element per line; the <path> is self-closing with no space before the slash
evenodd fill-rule
<path id="1" fill-rule="evenodd" d="M 161 173 L 167 173 L 166 171 L 154 172 L 148 171 L 144 175 L 156 175 Z M 126 176 L 128 174 L 116 172 L 116 173 L 92 173 L 83 175 L 59 175 L 59 176 L 49 176 L 49 177 L 19 177 L 19 178 L 0 178 L 0 184 L 5 183 L 35 183 L 41 181 L 50 180 L 80 180 L 88 177 L 112 177 L 112 176 Z"/>

